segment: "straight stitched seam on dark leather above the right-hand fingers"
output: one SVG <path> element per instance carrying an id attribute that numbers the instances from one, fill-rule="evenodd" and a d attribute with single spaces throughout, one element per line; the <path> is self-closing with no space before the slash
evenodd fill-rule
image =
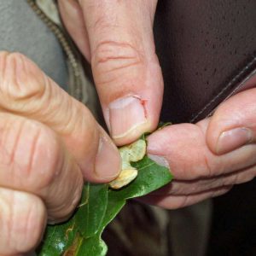
<path id="1" fill-rule="evenodd" d="M 230 88 L 230 86 L 231 86 L 234 82 L 236 82 L 236 79 L 239 79 L 239 77 L 240 77 L 243 73 L 245 73 L 249 67 L 252 67 L 254 63 L 256 63 L 256 57 L 254 57 L 254 58 L 253 58 L 253 61 L 250 61 L 250 62 L 247 64 L 247 66 L 244 67 L 244 68 L 241 70 L 240 73 L 236 74 L 236 76 L 235 76 L 233 79 L 230 80 L 230 82 L 218 93 L 218 95 L 215 96 L 210 102 L 208 102 L 207 105 L 206 105 L 204 108 L 202 108 L 201 111 L 200 111 L 199 113 L 197 113 L 193 119 L 190 119 L 190 123 L 194 122 L 195 119 L 197 119 L 197 118 L 201 115 L 201 113 L 203 113 L 204 111 L 206 111 L 207 108 L 211 107 L 211 105 L 212 105 L 214 102 L 216 102 L 216 101 L 218 100 L 218 98 L 219 98 L 220 96 L 222 96 L 222 95 L 224 94 L 224 92 L 225 92 L 226 90 L 228 90 L 228 89 Z"/>

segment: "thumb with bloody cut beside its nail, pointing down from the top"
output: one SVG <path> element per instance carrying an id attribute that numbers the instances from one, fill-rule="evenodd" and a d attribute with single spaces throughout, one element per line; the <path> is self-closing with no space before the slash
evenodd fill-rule
<path id="1" fill-rule="evenodd" d="M 91 63 L 103 114 L 117 145 L 159 122 L 163 81 L 154 51 L 156 0 L 59 0 L 62 20 Z"/>

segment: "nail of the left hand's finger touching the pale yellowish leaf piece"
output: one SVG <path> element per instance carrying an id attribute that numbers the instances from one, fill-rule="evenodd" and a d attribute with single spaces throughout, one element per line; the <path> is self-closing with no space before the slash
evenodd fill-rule
<path id="1" fill-rule="evenodd" d="M 120 170 L 121 157 L 119 150 L 108 137 L 102 135 L 96 154 L 96 175 L 102 179 L 108 179 L 108 181 L 110 181 L 119 175 Z"/>

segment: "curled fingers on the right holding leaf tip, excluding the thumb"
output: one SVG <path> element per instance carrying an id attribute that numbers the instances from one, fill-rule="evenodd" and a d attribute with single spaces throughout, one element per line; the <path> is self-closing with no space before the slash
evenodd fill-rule
<path id="1" fill-rule="evenodd" d="M 256 176 L 255 98 L 256 89 L 242 91 L 208 119 L 195 125 L 170 125 L 150 135 L 148 154 L 169 165 L 174 180 L 143 201 L 170 209 L 185 207 L 252 180 Z"/>

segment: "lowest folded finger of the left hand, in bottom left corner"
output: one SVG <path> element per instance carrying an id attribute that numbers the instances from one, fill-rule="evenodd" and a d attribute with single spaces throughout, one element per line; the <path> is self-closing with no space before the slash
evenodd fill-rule
<path id="1" fill-rule="evenodd" d="M 0 250 L 3 254 L 26 253 L 38 244 L 44 226 L 42 201 L 30 195 L 6 191 L 0 200 Z M 4 202 L 5 201 L 5 202 Z"/>

